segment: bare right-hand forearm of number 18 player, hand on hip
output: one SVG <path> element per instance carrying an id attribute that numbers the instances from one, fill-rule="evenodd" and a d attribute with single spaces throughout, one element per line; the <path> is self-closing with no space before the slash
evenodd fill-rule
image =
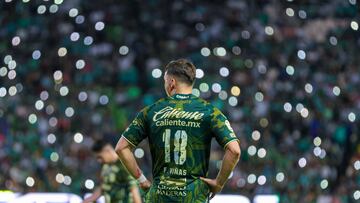
<path id="1" fill-rule="evenodd" d="M 215 194 L 220 192 L 224 187 L 229 175 L 234 170 L 236 164 L 239 161 L 240 153 L 241 151 L 239 143 L 236 141 L 230 142 L 226 147 L 221 169 L 216 179 L 201 178 L 209 185 L 210 192 L 212 193 L 211 198 L 213 198 Z"/>

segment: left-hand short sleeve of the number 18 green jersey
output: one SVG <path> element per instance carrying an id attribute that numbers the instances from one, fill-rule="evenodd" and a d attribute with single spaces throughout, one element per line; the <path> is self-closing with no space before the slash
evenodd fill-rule
<path id="1" fill-rule="evenodd" d="M 122 137 L 124 137 L 134 147 L 136 147 L 147 136 L 146 115 L 147 108 L 144 108 L 138 113 L 136 118 L 130 123 L 129 127 L 122 134 Z"/>

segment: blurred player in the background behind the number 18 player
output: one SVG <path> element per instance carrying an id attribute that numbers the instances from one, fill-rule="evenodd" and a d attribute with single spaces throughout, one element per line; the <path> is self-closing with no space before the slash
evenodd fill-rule
<path id="1" fill-rule="evenodd" d="M 103 164 L 102 184 L 84 203 L 95 202 L 104 195 L 106 203 L 141 203 L 136 180 L 127 172 L 117 156 L 114 147 L 102 140 L 96 141 L 92 150 Z"/>

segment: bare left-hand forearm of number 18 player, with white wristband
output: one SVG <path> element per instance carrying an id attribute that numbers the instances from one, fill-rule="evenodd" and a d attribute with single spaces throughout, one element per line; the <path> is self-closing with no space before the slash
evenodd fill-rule
<path id="1" fill-rule="evenodd" d="M 139 179 L 142 175 L 142 172 L 136 162 L 132 150 L 132 145 L 124 137 L 120 138 L 115 148 L 116 153 L 118 154 L 125 168 L 129 171 L 130 175 L 136 179 Z M 148 189 L 150 185 L 151 183 L 148 180 L 143 183 L 140 182 L 140 187 L 144 190 Z"/>

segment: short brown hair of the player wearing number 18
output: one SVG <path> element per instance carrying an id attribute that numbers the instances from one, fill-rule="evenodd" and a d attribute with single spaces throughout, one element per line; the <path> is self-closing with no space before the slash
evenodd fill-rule
<path id="1" fill-rule="evenodd" d="M 170 61 L 165 66 L 165 72 L 188 85 L 193 85 L 195 82 L 196 68 L 194 64 L 186 59 Z"/>

